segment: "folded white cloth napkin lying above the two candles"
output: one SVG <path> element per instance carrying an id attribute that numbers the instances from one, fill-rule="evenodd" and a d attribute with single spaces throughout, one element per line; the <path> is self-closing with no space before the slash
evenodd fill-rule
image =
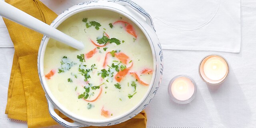
<path id="1" fill-rule="evenodd" d="M 152 16 L 163 49 L 240 52 L 240 0 L 133 1 Z"/>

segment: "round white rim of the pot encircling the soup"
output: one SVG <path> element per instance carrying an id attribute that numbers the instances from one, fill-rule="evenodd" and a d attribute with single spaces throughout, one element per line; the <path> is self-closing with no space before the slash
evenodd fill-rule
<path id="1" fill-rule="evenodd" d="M 112 3 L 114 5 L 114 3 Z M 118 4 L 119 5 L 119 4 Z M 73 6 L 74 7 L 74 6 Z M 72 7 L 71 7 L 72 8 Z M 84 118 L 82 116 L 78 116 L 78 115 L 75 115 L 73 114 L 70 110 L 66 109 L 64 106 L 62 106 L 62 104 L 60 104 L 58 102 L 58 100 L 56 100 L 56 98 L 54 98 L 54 96 L 52 95 L 51 91 L 49 90 L 48 86 L 47 86 L 47 83 L 46 83 L 46 79 L 44 78 L 44 53 L 45 53 L 45 49 L 46 49 L 46 46 L 48 44 L 48 41 L 49 41 L 49 38 L 44 36 L 43 39 L 42 39 L 42 42 L 41 42 L 41 45 L 40 45 L 40 54 L 38 54 L 38 72 L 39 72 L 39 75 L 41 74 L 42 72 L 42 75 L 40 76 L 40 82 L 42 84 L 42 87 L 44 89 L 44 92 L 46 94 L 46 97 L 48 97 L 48 99 L 50 100 L 50 102 L 52 104 L 54 104 L 54 106 L 56 108 L 58 108 L 58 110 L 60 110 L 63 114 L 65 114 L 66 116 L 78 121 L 78 122 L 88 122 L 90 124 L 98 124 L 98 123 L 106 123 L 106 122 L 112 122 L 112 121 L 115 121 L 115 120 L 120 120 L 122 118 L 125 118 L 126 116 L 136 112 L 136 110 L 140 107 L 143 107 L 143 105 L 146 103 L 147 99 L 149 98 L 150 96 L 150 92 L 152 92 L 152 89 L 153 89 L 153 84 L 155 83 L 156 81 L 156 76 L 157 76 L 157 72 L 158 72 L 158 68 L 157 68 L 157 57 L 156 57 L 156 48 L 154 45 L 156 44 L 153 44 L 153 41 L 152 41 L 152 38 L 150 37 L 150 34 L 148 31 L 150 30 L 146 30 L 146 28 L 144 27 L 145 25 L 148 25 L 146 24 L 146 22 L 143 23 L 143 20 L 142 19 L 136 19 L 134 18 L 135 14 L 128 14 L 122 10 L 119 10 L 118 8 L 114 8 L 112 6 L 95 6 L 95 5 L 89 5 L 89 6 L 83 6 L 82 8 L 76 8 L 76 10 L 67 10 L 67 14 L 65 14 L 64 16 L 62 16 L 62 14 L 60 14 L 56 19 L 58 19 L 58 21 L 53 21 L 52 24 L 50 26 L 54 27 L 54 28 L 57 28 L 64 20 L 66 20 L 67 18 L 69 18 L 70 16 L 74 15 L 74 14 L 77 14 L 79 12 L 84 12 L 86 10 L 96 10 L 96 9 L 100 9 L 100 10 L 110 10 L 112 12 L 116 12 L 118 14 L 122 14 L 123 16 L 125 16 L 126 18 L 130 19 L 134 24 L 136 24 L 140 30 L 142 30 L 142 32 L 144 33 L 144 35 L 146 36 L 149 44 L 150 44 L 150 48 L 151 48 L 151 51 L 152 51 L 152 57 L 153 57 L 153 66 L 154 66 L 154 72 L 153 72 L 153 76 L 152 76 L 152 80 L 150 82 L 150 86 L 148 88 L 148 91 L 147 93 L 144 95 L 144 98 L 142 98 L 142 100 L 140 100 L 139 104 L 137 104 L 136 106 L 134 106 L 132 109 L 130 109 L 128 112 L 125 112 L 124 114 L 121 114 L 119 116 L 116 116 L 116 117 L 113 117 L 113 118 L 108 118 L 108 119 L 101 119 L 101 120 L 98 120 L 98 119 L 89 119 L 89 118 Z M 140 21 L 139 21 L 140 20 Z M 155 34 L 155 32 L 154 32 Z M 151 36 L 152 36 L 152 33 L 151 33 Z M 154 36 L 152 36 L 154 37 Z M 158 60 L 159 61 L 159 60 Z M 159 74 L 158 74 L 159 75 Z M 137 110 L 138 111 L 138 110 Z M 138 112 L 139 113 L 139 112 Z M 138 114 L 136 113 L 136 114 Z M 135 115 L 136 115 L 135 114 Z M 134 115 L 134 116 L 135 116 Z M 133 117 L 133 116 L 132 116 Z"/>

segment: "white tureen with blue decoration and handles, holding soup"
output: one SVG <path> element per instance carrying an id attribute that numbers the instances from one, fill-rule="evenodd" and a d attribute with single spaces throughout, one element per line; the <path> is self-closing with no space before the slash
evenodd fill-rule
<path id="1" fill-rule="evenodd" d="M 57 28 L 64 20 L 69 18 L 70 16 L 93 9 L 102 9 L 102 10 L 111 10 L 113 12 L 117 12 L 126 16 L 130 20 L 132 20 L 145 34 L 148 42 L 150 44 L 153 61 L 154 61 L 154 73 L 152 77 L 152 81 L 150 83 L 147 95 L 144 97 L 142 102 L 134 107 L 134 109 L 126 112 L 120 116 L 104 119 L 104 120 L 85 120 L 83 118 L 78 118 L 75 115 L 71 114 L 69 110 L 64 108 L 60 103 L 57 102 L 56 98 L 52 95 L 50 89 L 47 86 L 46 78 L 44 77 L 44 53 L 46 50 L 46 46 L 49 41 L 49 37 L 43 36 L 41 45 L 38 52 L 38 74 L 40 78 L 40 82 L 45 92 L 46 99 L 48 101 L 49 112 L 52 118 L 58 122 L 60 125 L 66 128 L 80 128 L 86 126 L 110 126 L 114 124 L 119 124 L 130 118 L 139 114 L 152 100 L 155 96 L 163 74 L 163 53 L 162 48 L 159 43 L 158 37 L 156 36 L 156 32 L 154 29 L 154 25 L 152 22 L 152 18 L 150 15 L 136 3 L 130 0 L 97 0 L 97 1 L 87 1 L 71 8 L 68 8 L 64 12 L 62 12 L 50 26 Z M 67 122 L 60 118 L 55 112 L 54 109 L 58 109 L 68 118 L 74 120 L 74 123 Z"/>

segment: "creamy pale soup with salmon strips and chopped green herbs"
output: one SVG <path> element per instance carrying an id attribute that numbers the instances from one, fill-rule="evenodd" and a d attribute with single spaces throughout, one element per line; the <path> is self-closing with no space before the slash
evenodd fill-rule
<path id="1" fill-rule="evenodd" d="M 106 119 L 132 110 L 152 80 L 153 58 L 143 32 L 107 10 L 80 12 L 58 30 L 83 42 L 76 50 L 50 39 L 44 74 L 56 100 L 76 116 Z"/>

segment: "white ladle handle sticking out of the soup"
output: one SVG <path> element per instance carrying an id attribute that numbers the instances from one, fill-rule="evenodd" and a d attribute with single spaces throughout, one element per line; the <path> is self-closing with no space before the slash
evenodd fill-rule
<path id="1" fill-rule="evenodd" d="M 52 28 L 48 24 L 45 24 L 44 22 L 2 0 L 0 0 L 0 15 L 78 50 L 82 50 L 84 48 L 84 44 L 82 44 L 82 42 L 79 42 L 63 32 Z"/>

